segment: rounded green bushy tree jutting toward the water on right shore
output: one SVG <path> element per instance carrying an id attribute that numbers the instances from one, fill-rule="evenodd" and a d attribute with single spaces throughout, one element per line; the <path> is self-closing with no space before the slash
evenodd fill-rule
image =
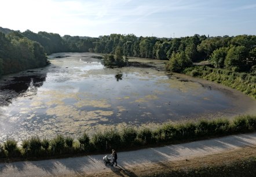
<path id="1" fill-rule="evenodd" d="M 192 65 L 192 61 L 186 56 L 184 51 L 171 54 L 170 61 L 166 65 L 166 69 L 173 72 L 181 72 L 186 67 Z"/>

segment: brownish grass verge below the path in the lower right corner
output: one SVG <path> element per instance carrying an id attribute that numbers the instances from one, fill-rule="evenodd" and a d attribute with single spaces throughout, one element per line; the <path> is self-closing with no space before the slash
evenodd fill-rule
<path id="1" fill-rule="evenodd" d="M 255 146 L 188 160 L 166 161 L 149 165 L 147 171 L 133 171 L 137 176 L 255 176 Z"/>

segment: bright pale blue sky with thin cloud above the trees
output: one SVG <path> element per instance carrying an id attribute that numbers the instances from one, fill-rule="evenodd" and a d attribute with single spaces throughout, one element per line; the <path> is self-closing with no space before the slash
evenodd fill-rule
<path id="1" fill-rule="evenodd" d="M 0 27 L 91 37 L 256 35 L 256 1 L 3 0 Z"/>

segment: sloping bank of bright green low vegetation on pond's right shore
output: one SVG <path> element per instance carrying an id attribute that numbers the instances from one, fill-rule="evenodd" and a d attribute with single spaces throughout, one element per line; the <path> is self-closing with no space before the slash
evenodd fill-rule
<path id="1" fill-rule="evenodd" d="M 256 75 L 254 73 L 234 72 L 206 66 L 189 67 L 184 69 L 183 73 L 224 84 L 256 99 Z"/>

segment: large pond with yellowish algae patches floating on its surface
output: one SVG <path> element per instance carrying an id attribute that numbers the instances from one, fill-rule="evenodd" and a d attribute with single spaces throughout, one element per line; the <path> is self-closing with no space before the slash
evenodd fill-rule
<path id="1" fill-rule="evenodd" d="M 166 72 L 164 61 L 131 58 L 127 67 L 106 68 L 99 56 L 57 53 L 48 67 L 3 76 L 0 142 L 254 113 L 250 97 Z"/>

